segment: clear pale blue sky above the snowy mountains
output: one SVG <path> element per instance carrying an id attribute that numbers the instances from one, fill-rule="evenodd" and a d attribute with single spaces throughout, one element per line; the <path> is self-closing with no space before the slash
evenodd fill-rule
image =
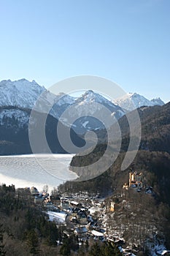
<path id="1" fill-rule="evenodd" d="M 0 0 L 0 80 L 74 75 L 169 101 L 170 1 Z"/>

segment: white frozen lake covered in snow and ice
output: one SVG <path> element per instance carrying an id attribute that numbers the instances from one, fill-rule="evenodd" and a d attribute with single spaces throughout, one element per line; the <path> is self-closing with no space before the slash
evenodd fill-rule
<path id="1" fill-rule="evenodd" d="M 47 185 L 48 192 L 77 175 L 69 170 L 72 154 L 29 154 L 0 157 L 0 184 L 18 187 Z"/>

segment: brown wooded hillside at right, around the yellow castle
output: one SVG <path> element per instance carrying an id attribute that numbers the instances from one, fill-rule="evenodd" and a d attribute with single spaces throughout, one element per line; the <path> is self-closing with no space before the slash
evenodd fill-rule
<path id="1" fill-rule="evenodd" d="M 153 248 L 158 244 L 170 247 L 170 103 L 162 107 L 139 108 L 138 111 L 142 141 L 129 167 L 121 170 L 129 142 L 129 127 L 124 116 L 119 121 L 123 135 L 122 148 L 113 165 L 96 178 L 82 182 L 69 181 L 59 189 L 61 192 L 96 193 L 106 198 L 107 205 L 114 202 L 115 212 L 108 211 L 104 216 L 107 229 L 114 236 L 125 238 L 130 246 L 136 244 L 142 247 L 144 255 L 155 255 Z M 87 166 L 98 161 L 105 150 L 106 144 L 100 143 L 87 156 L 73 157 L 72 170 L 74 166 Z M 115 145 L 110 151 L 115 154 Z M 129 172 L 142 173 L 142 189 L 128 187 Z M 123 184 L 127 184 L 126 189 L 123 189 Z"/>

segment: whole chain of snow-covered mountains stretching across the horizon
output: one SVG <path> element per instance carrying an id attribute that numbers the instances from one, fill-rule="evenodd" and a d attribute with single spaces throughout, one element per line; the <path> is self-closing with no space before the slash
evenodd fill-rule
<path id="1" fill-rule="evenodd" d="M 40 97 L 41 96 L 41 97 Z M 40 101 L 37 99 L 41 98 Z M 97 104 L 96 104 L 97 103 Z M 101 122 L 96 121 L 96 113 L 100 112 L 100 116 L 104 117 L 104 108 L 110 112 L 110 120 L 112 118 L 121 118 L 127 111 L 140 108 L 142 106 L 163 105 L 164 102 L 160 99 L 146 99 L 142 95 L 136 93 L 125 94 L 124 97 L 111 102 L 101 94 L 92 90 L 85 91 L 80 97 L 72 97 L 69 94 L 62 92 L 55 95 L 39 86 L 35 80 L 31 82 L 26 79 L 20 80 L 2 80 L 0 82 L 0 107 L 12 106 L 17 108 L 32 109 L 36 105 L 36 110 L 41 113 L 50 113 L 53 117 L 66 125 L 73 127 L 77 133 L 85 133 L 88 130 L 103 129 Z M 81 116 L 79 120 L 71 124 L 69 118 L 61 118 L 64 111 L 69 110 L 69 115 L 72 118 Z M 9 113 L 11 111 L 11 113 Z M 21 118 L 21 113 L 15 113 L 15 109 L 2 111 L 1 122 L 4 120 L 3 116 L 20 119 L 20 122 L 25 123 L 26 118 Z M 7 120 L 7 118 L 5 119 Z"/>

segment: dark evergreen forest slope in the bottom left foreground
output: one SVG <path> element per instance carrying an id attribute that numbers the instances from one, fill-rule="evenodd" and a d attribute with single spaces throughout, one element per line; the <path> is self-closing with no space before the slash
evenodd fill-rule
<path id="1" fill-rule="evenodd" d="M 69 237 L 66 234 L 69 233 Z M 93 239 L 79 246 L 66 225 L 52 222 L 43 204 L 34 204 L 30 189 L 0 186 L 0 255 L 121 256 L 115 244 Z"/>

